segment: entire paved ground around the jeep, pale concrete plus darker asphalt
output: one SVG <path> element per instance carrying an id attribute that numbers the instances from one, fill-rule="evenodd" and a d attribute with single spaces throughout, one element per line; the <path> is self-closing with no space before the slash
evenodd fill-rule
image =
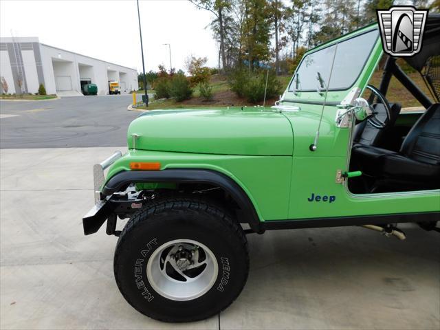
<path id="1" fill-rule="evenodd" d="M 250 234 L 250 276 L 219 316 L 170 325 L 130 307 L 117 238 L 83 235 L 92 166 L 126 150 L 131 96 L 0 101 L 1 329 L 439 329 L 440 236 L 363 228 Z M 122 225 L 123 223 L 121 223 Z"/>

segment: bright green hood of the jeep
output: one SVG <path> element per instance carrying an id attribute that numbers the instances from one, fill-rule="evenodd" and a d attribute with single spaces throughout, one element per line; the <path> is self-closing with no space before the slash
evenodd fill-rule
<path id="1" fill-rule="evenodd" d="M 179 153 L 292 155 L 293 135 L 282 113 L 263 108 L 155 110 L 133 120 L 128 145 Z"/>

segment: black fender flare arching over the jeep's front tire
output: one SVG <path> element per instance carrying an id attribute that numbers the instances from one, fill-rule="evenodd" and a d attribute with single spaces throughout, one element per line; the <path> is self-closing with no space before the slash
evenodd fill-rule
<path id="1" fill-rule="evenodd" d="M 111 177 L 102 188 L 101 195 L 106 197 L 129 186 L 132 183 L 166 183 L 177 184 L 212 184 L 219 186 L 239 204 L 242 214 L 246 217 L 245 223 L 259 234 L 263 233 L 263 226 L 254 204 L 248 194 L 232 178 L 215 170 L 206 169 L 168 169 L 168 170 L 124 170 Z"/>

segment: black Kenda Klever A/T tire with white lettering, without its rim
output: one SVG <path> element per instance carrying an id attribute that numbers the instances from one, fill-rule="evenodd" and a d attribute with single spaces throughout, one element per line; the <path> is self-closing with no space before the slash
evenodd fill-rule
<path id="1" fill-rule="evenodd" d="M 147 276 L 148 259 L 162 244 L 176 239 L 208 247 L 218 264 L 208 292 L 192 300 L 165 298 Z M 194 197 L 168 197 L 131 217 L 120 234 L 114 256 L 116 283 L 140 313 L 165 322 L 190 322 L 218 314 L 239 296 L 249 273 L 248 242 L 228 212 Z"/>

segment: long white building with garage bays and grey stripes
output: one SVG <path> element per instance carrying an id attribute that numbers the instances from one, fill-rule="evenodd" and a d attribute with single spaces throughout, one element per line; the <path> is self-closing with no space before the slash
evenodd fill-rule
<path id="1" fill-rule="evenodd" d="M 94 83 L 98 95 L 105 95 L 109 80 L 120 83 L 121 94 L 138 89 L 135 69 L 45 45 L 35 37 L 0 38 L 0 54 L 0 78 L 8 94 L 34 94 L 43 84 L 47 94 L 83 95 L 81 85 Z"/>

